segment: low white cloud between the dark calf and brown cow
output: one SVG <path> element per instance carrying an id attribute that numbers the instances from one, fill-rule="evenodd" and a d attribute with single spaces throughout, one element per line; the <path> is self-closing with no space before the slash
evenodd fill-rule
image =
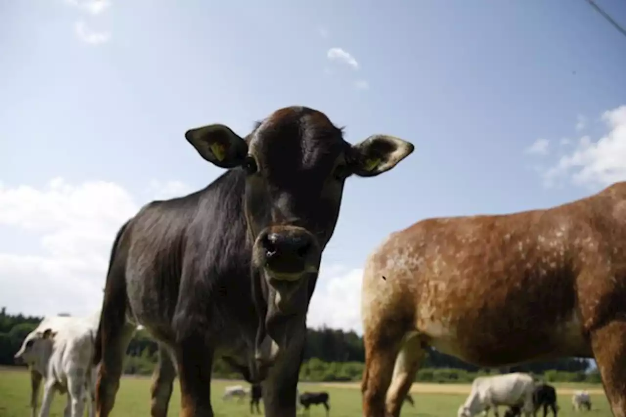
<path id="1" fill-rule="evenodd" d="M 322 265 L 309 305 L 307 326 L 327 326 L 362 334 L 362 269 Z"/>

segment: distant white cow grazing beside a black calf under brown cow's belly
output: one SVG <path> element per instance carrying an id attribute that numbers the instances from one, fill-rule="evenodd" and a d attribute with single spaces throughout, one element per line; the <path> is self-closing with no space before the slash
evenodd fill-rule
<path id="1" fill-rule="evenodd" d="M 523 404 L 522 411 L 529 417 L 533 411 L 533 377 L 524 373 L 479 376 L 471 384 L 471 393 L 459 407 L 458 417 L 473 417 L 482 411 L 498 417 L 498 406 Z"/>

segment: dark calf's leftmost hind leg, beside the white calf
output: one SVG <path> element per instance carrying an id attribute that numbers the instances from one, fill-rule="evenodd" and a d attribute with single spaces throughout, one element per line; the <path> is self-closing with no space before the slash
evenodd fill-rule
<path id="1" fill-rule="evenodd" d="M 135 333 L 135 326 L 125 323 L 120 327 L 108 321 L 101 323 L 102 362 L 96 383 L 96 416 L 107 417 L 115 404 L 115 395 L 120 388 L 123 360 L 126 348 Z"/>

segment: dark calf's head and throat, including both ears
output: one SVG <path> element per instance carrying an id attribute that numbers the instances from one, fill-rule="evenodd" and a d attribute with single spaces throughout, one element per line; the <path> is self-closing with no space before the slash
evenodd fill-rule
<path id="1" fill-rule="evenodd" d="M 351 145 L 324 113 L 297 106 L 275 111 L 246 138 L 224 125 L 185 137 L 209 162 L 245 175 L 252 269 L 270 336 L 285 322 L 273 331 L 271 317 L 305 316 L 346 178 L 379 175 L 413 152 L 411 143 L 387 135 Z"/>

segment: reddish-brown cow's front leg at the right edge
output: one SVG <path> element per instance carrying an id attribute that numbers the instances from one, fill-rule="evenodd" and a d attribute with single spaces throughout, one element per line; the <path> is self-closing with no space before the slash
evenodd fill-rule
<path id="1" fill-rule="evenodd" d="M 626 417 L 626 322 L 593 330 L 591 342 L 613 416 Z"/>

